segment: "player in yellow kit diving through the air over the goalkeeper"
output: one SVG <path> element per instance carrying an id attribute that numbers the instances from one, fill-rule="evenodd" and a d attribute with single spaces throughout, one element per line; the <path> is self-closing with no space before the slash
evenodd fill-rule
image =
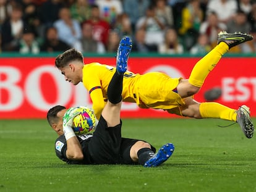
<path id="1" fill-rule="evenodd" d="M 132 72 L 124 73 L 122 99 L 136 102 L 141 108 L 163 109 L 171 114 L 185 117 L 218 118 L 239 123 L 244 135 L 252 138 L 254 125 L 250 120 L 249 107 L 241 106 L 231 109 L 218 102 L 197 102 L 192 96 L 202 87 L 208 73 L 214 69 L 224 53 L 237 44 L 252 40 L 251 35 L 243 33 L 218 34 L 218 45 L 195 64 L 187 80 L 171 78 L 161 72 L 150 72 L 143 75 Z M 128 37 L 121 40 L 117 50 L 116 67 L 127 64 L 132 42 Z M 115 72 L 114 67 L 99 64 L 83 64 L 81 52 L 69 49 L 56 57 L 56 67 L 61 70 L 66 81 L 77 85 L 82 82 L 89 91 L 93 110 L 99 119 L 108 99 L 108 83 Z"/>

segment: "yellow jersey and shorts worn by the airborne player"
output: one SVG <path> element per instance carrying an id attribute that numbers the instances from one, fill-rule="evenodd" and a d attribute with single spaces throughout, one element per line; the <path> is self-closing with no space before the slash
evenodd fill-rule
<path id="1" fill-rule="evenodd" d="M 83 65 L 83 86 L 88 90 L 97 119 L 108 101 L 108 85 L 116 72 L 110 65 L 93 62 Z M 160 72 L 125 72 L 122 88 L 122 101 L 136 102 L 141 108 L 173 109 L 184 104 L 176 93 L 181 78 L 171 78 Z"/>

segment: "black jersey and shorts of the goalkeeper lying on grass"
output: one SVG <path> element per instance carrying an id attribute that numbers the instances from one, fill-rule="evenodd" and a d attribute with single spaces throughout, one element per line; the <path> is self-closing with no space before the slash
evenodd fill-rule
<path id="1" fill-rule="evenodd" d="M 108 127 L 101 116 L 93 135 L 77 136 L 83 152 L 82 161 L 67 159 L 67 142 L 64 135 L 55 142 L 56 155 L 68 164 L 137 164 L 130 158 L 130 148 L 141 140 L 122 138 L 121 126 Z M 145 141 L 144 141 L 145 142 Z M 155 148 L 151 146 L 155 152 Z"/>

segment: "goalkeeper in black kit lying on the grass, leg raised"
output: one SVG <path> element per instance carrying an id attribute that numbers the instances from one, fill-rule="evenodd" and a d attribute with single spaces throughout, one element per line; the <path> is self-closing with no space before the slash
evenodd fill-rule
<path id="1" fill-rule="evenodd" d="M 55 151 L 62 161 L 68 164 L 140 164 L 156 167 L 173 154 L 172 143 L 164 144 L 156 152 L 146 141 L 121 136 L 122 81 L 131 46 L 132 43 L 127 39 L 121 40 L 119 44 L 116 61 L 118 67 L 108 86 L 108 102 L 93 134 L 75 135 L 72 124 L 77 113 L 72 112 L 72 109 L 68 114 L 64 106 L 49 109 L 47 119 L 59 135 Z"/>

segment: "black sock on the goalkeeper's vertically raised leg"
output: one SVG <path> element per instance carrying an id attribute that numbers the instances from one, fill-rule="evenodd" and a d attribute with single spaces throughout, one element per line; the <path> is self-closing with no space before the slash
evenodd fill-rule
<path id="1" fill-rule="evenodd" d="M 108 101 L 117 104 L 122 101 L 122 80 L 124 74 L 114 73 L 108 85 Z"/>

